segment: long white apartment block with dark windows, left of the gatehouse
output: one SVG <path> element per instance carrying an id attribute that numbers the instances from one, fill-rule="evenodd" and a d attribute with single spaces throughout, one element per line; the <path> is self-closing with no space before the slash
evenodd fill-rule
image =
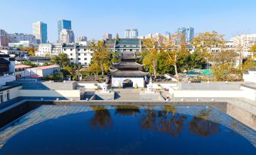
<path id="1" fill-rule="evenodd" d="M 35 56 L 56 56 L 59 53 L 66 53 L 72 64 L 89 65 L 94 52 L 79 44 L 40 44 Z"/>

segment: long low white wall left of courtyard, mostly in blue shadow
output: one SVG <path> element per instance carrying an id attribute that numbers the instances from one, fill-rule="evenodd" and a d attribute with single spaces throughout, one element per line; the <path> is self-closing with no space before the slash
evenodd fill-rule
<path id="1" fill-rule="evenodd" d="M 19 96 L 80 98 L 79 90 L 19 90 Z"/>

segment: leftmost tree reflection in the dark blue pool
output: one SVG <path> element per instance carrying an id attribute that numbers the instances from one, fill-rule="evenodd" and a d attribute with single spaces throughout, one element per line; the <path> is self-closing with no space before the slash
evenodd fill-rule
<path id="1" fill-rule="evenodd" d="M 109 110 L 104 106 L 91 106 L 94 110 L 94 117 L 90 120 L 92 128 L 106 129 L 106 127 L 112 126 L 112 119 Z"/>

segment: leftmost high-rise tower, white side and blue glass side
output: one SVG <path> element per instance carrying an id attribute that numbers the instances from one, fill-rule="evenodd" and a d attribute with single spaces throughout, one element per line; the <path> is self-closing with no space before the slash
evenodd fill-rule
<path id="1" fill-rule="evenodd" d="M 47 24 L 41 21 L 33 23 L 33 35 L 37 43 L 47 43 Z"/>

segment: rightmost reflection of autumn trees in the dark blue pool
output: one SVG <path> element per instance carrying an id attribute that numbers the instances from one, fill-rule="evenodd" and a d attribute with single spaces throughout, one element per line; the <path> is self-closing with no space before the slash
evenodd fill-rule
<path id="1" fill-rule="evenodd" d="M 208 111 L 204 109 L 200 111 L 197 116 L 193 117 L 193 120 L 191 120 L 191 122 L 189 123 L 189 131 L 193 132 L 196 135 L 202 135 L 205 137 L 212 134 L 217 134 L 217 132 L 219 131 L 218 124 L 208 120 L 211 111 L 212 108 L 208 109 Z"/>

